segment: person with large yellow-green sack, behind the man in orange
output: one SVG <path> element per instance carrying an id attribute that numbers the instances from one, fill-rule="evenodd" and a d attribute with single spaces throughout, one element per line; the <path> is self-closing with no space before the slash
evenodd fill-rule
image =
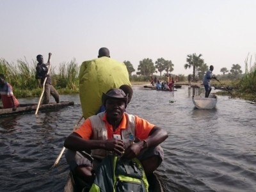
<path id="1" fill-rule="evenodd" d="M 99 111 L 102 93 L 122 84 L 131 86 L 124 63 L 110 58 L 109 49 L 99 49 L 97 59 L 84 61 L 79 71 L 79 97 L 84 118 Z"/>

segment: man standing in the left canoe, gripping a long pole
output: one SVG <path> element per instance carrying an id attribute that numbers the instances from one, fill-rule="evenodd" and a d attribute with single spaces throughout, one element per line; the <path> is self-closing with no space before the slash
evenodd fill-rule
<path id="1" fill-rule="evenodd" d="M 49 58 L 51 57 L 51 52 L 49 52 Z M 56 103 L 60 102 L 60 96 L 59 93 L 56 91 L 54 86 L 52 86 L 52 79 L 51 76 L 47 75 L 48 68 L 47 65 L 50 65 L 50 60 L 45 64 L 44 63 L 44 57 L 41 54 L 38 54 L 36 56 L 36 60 L 38 61 L 36 65 L 36 79 L 41 79 L 41 85 L 44 85 L 44 79 L 47 77 L 45 82 L 45 91 L 44 91 L 44 100 L 42 104 L 49 104 L 50 97 L 54 97 Z"/>

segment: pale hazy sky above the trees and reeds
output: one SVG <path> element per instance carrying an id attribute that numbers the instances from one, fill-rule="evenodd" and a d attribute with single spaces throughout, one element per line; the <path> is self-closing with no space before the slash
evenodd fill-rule
<path id="1" fill-rule="evenodd" d="M 228 70 L 256 53 L 255 0 L 0 0 L 0 58 L 29 62 L 42 54 L 51 63 L 79 65 L 108 47 L 111 58 L 171 60 L 172 74 L 185 70 L 188 54 Z M 159 72 L 157 73 L 159 75 Z"/>

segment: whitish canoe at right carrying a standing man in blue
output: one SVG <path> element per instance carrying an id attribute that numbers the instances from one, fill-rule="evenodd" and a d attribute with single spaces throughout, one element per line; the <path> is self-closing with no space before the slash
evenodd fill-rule
<path id="1" fill-rule="evenodd" d="M 216 106 L 217 95 L 209 95 L 207 98 L 205 98 L 203 94 L 200 94 L 199 96 L 193 95 L 192 100 L 195 107 L 198 109 L 212 109 Z"/>

